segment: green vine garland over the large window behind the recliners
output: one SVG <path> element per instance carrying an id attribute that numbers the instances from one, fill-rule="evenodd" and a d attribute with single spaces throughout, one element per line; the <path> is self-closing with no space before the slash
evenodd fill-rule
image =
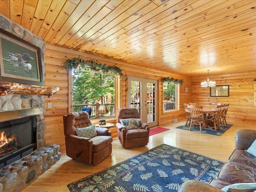
<path id="1" fill-rule="evenodd" d="M 120 75 L 124 77 L 122 69 L 117 66 L 107 66 L 106 64 L 101 64 L 98 60 L 90 59 L 84 60 L 83 58 L 77 57 L 73 59 L 67 59 L 64 63 L 64 67 L 67 70 L 80 69 L 80 70 L 90 70 L 95 73 L 112 73 L 115 75 Z"/>

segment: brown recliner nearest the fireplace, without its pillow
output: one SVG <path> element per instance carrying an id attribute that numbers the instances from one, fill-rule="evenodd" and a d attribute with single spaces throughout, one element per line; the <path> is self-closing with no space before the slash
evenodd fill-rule
<path id="1" fill-rule="evenodd" d="M 112 136 L 106 128 L 96 128 L 97 136 L 79 137 L 76 128 L 92 125 L 87 112 L 72 112 L 63 116 L 66 154 L 74 160 L 98 164 L 112 153 Z"/>

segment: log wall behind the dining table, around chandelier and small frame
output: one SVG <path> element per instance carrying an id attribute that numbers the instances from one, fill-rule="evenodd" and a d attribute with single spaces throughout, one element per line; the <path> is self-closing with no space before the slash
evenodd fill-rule
<path id="1" fill-rule="evenodd" d="M 242 65 L 241 65 L 242 67 Z M 256 122 L 255 106 L 255 72 L 211 76 L 216 85 L 229 85 L 229 97 L 210 97 L 210 88 L 202 88 L 204 77 L 192 78 L 192 101 L 202 106 L 210 102 L 230 104 L 226 119 Z"/>

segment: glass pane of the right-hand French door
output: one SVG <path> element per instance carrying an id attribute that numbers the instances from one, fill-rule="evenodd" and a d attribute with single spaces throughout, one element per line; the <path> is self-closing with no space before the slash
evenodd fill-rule
<path id="1" fill-rule="evenodd" d="M 156 121 L 156 90 L 154 83 L 147 83 L 147 123 Z"/>

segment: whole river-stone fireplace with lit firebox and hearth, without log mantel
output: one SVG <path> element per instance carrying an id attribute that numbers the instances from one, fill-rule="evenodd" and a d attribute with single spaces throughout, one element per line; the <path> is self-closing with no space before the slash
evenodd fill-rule
<path id="1" fill-rule="evenodd" d="M 45 77 L 44 40 L 2 15 L 0 28 L 40 48 Z M 61 154 L 58 145 L 46 145 L 44 140 L 44 95 L 3 93 L 0 133 L 5 132 L 3 137 L 10 138 L 11 143 L 3 147 L 3 156 L 0 146 L 0 192 L 19 192 L 57 162 Z M 20 124 L 24 125 L 18 130 Z"/>

